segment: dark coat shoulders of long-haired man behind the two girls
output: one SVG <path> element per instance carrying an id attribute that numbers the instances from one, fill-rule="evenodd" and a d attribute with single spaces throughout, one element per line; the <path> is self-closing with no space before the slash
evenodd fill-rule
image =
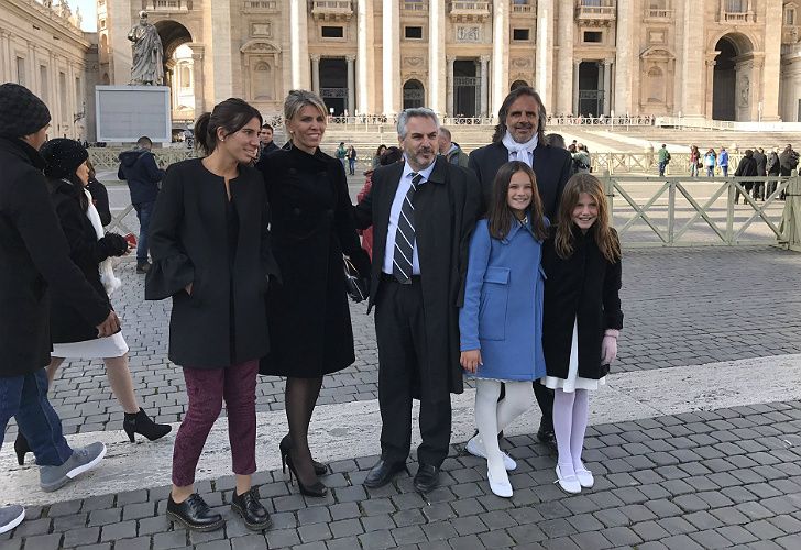
<path id="1" fill-rule="evenodd" d="M 492 200 L 492 183 L 498 168 L 509 162 L 509 152 L 503 143 L 491 143 L 470 153 L 468 166 L 475 172 L 483 190 L 483 211 Z M 542 199 L 542 210 L 551 221 L 559 211 L 564 184 L 572 174 L 573 160 L 570 153 L 560 147 L 539 143 L 534 150 L 534 173 L 537 189 Z"/>

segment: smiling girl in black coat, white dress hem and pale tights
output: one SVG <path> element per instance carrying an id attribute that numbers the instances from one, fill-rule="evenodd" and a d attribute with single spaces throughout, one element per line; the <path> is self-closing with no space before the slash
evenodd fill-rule
<path id="1" fill-rule="evenodd" d="M 581 462 L 589 391 L 604 383 L 623 328 L 621 245 L 601 182 L 590 174 L 568 180 L 558 220 L 542 249 L 548 375 L 540 382 L 555 391 L 557 481 L 568 493 L 579 493 L 594 483 Z"/>

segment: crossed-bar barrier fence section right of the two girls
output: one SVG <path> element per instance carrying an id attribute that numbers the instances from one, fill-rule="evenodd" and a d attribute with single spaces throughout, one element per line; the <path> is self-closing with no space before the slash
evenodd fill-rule
<path id="1" fill-rule="evenodd" d="M 626 246 L 780 244 L 787 209 L 781 197 L 790 184 L 799 185 L 797 175 L 688 178 L 604 173 L 599 178 Z M 768 184 L 764 200 L 747 189 Z"/>

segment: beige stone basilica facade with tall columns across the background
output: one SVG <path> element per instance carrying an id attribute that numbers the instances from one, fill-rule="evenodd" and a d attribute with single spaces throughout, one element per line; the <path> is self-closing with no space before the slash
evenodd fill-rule
<path id="1" fill-rule="evenodd" d="M 293 88 L 337 116 L 491 118 L 524 84 L 552 114 L 801 120 L 801 0 L 98 0 L 97 34 L 64 1 L 6 6 L 2 78 L 50 99 L 58 135 L 88 132 L 96 82 L 130 81 L 142 10 L 185 124 L 229 97 L 279 112 Z"/>

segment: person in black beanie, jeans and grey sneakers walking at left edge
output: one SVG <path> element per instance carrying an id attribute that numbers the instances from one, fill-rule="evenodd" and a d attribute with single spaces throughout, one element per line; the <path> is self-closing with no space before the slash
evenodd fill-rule
<path id="1" fill-rule="evenodd" d="M 44 491 L 55 491 L 106 454 L 102 443 L 72 449 L 47 400 L 50 293 L 67 297 L 96 336 L 120 321 L 69 260 L 69 245 L 47 196 L 39 148 L 47 139 L 47 107 L 28 88 L 0 86 L 0 447 L 17 420 L 33 448 Z M 25 510 L 0 506 L 0 532 L 17 527 Z"/>

